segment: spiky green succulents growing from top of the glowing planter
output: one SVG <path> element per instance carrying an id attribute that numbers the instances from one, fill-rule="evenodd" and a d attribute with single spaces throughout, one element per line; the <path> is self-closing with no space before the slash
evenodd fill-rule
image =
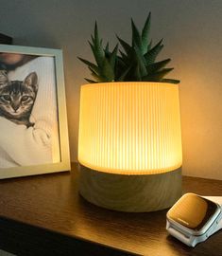
<path id="1" fill-rule="evenodd" d="M 165 65 L 171 60 L 165 59 L 156 62 L 158 54 L 162 50 L 162 40 L 155 46 L 149 40 L 151 13 L 145 21 L 142 32 L 135 26 L 131 19 L 132 41 L 129 45 L 117 36 L 123 50 L 119 50 L 118 44 L 110 51 L 109 43 L 104 47 L 99 38 L 97 24 L 94 25 L 94 36 L 89 42 L 94 53 L 96 64 L 85 59 L 78 58 L 87 64 L 92 72 L 94 80 L 86 79 L 87 82 L 171 82 L 179 83 L 179 80 L 166 79 L 164 76 L 174 68 L 166 68 Z"/>

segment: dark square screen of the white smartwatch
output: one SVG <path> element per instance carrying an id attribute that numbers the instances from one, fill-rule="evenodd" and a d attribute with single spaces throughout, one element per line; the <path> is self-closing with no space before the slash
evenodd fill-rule
<path id="1" fill-rule="evenodd" d="M 217 205 L 196 194 L 184 194 L 167 216 L 180 225 L 196 231 L 202 229 L 217 210 Z"/>

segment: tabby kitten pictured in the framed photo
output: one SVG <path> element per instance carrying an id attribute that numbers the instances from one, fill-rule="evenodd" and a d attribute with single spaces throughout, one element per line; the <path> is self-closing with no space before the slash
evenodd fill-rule
<path id="1" fill-rule="evenodd" d="M 0 116 L 16 124 L 33 126 L 29 121 L 38 92 L 38 76 L 32 72 L 24 81 L 9 81 L 7 71 L 0 70 Z"/>

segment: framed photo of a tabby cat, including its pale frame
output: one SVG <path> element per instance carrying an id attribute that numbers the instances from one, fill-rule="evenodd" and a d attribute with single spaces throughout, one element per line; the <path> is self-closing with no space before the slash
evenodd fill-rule
<path id="1" fill-rule="evenodd" d="M 0 179 L 69 170 L 62 51 L 0 45 Z"/>

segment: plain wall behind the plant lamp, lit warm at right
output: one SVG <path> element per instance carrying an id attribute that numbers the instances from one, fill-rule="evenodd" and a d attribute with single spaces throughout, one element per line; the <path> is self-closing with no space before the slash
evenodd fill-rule
<path id="1" fill-rule="evenodd" d="M 152 12 L 151 35 L 180 79 L 183 174 L 222 179 L 221 0 L 0 0 L 0 32 L 15 45 L 63 49 L 72 160 L 77 160 L 79 86 L 89 77 L 77 56 L 92 59 L 87 40 L 98 22 L 104 40 L 130 38 Z"/>

